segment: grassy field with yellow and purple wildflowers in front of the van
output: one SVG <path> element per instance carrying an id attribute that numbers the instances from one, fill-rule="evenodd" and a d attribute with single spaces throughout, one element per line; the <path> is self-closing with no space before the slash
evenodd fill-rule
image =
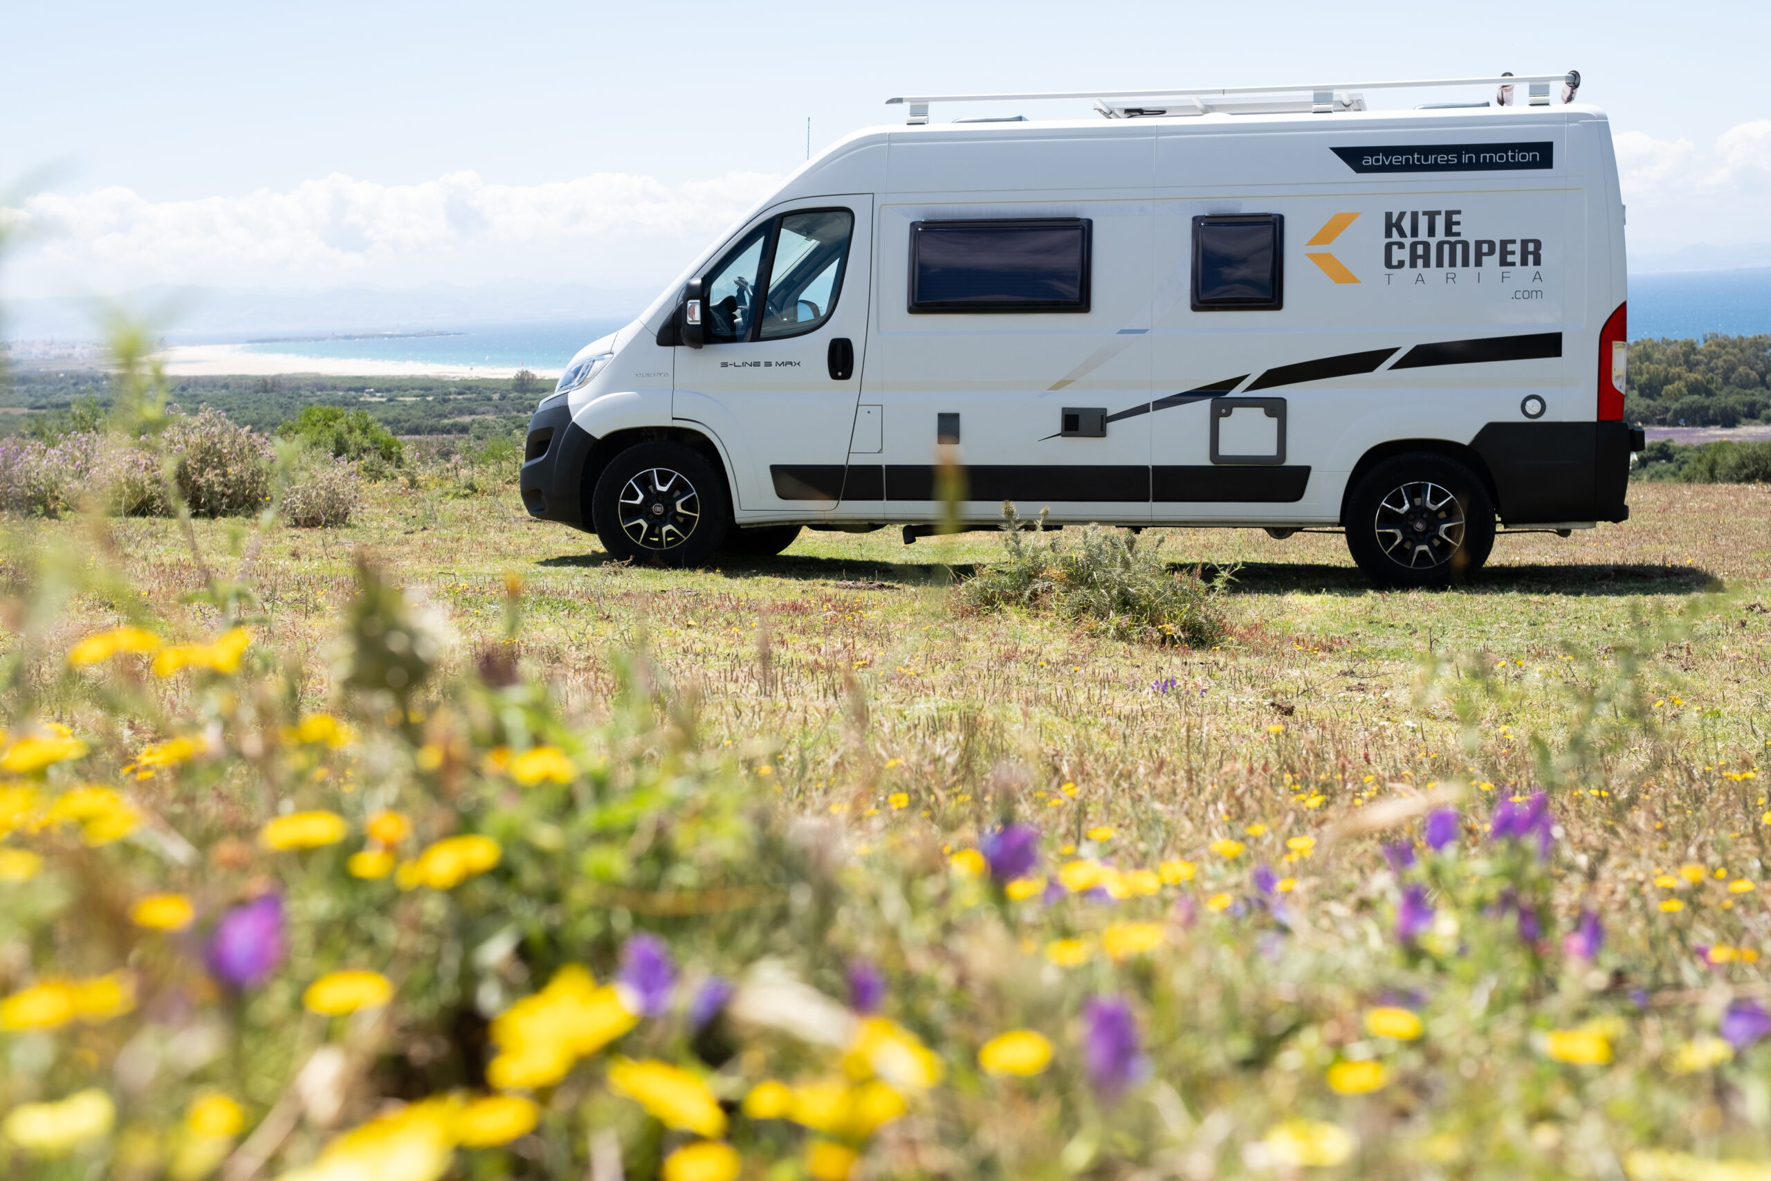
<path id="1" fill-rule="evenodd" d="M 648 570 L 530 521 L 514 490 L 393 483 L 370 489 L 345 529 L 14 522 L 9 708 L 14 733 L 35 710 L 89 737 L 94 765 L 140 760 L 143 744 L 179 733 L 218 735 L 211 749 L 228 751 L 124 777 L 202 859 L 152 871 L 136 859 L 119 873 L 135 891 L 163 880 L 211 914 L 275 884 L 290 921 L 301 915 L 285 969 L 299 979 L 230 1009 L 250 1048 L 168 1092 L 202 1084 L 239 1100 L 228 1135 L 255 1130 L 209 1165 L 227 1156 L 230 1181 L 345 1162 L 365 1140 L 324 1147 L 340 1126 L 381 1110 L 365 1128 L 407 1135 L 423 1110 L 377 1103 L 487 1080 L 533 1094 L 540 1128 L 446 1140 L 462 1144 L 460 1176 L 604 1181 L 616 1176 L 611 1151 L 625 1176 L 653 1176 L 684 1146 L 673 1128 L 696 1124 L 645 1098 L 638 1115 L 618 1098 L 638 1098 L 618 1082 L 620 1059 L 607 1073 L 595 1059 L 565 1082 L 507 1085 L 473 1050 L 553 965 L 627 972 L 641 930 L 669 940 L 685 977 L 747 981 L 724 1052 L 677 1023 L 680 1007 L 622 1043 L 687 1064 L 730 1112 L 742 1165 L 685 1172 L 691 1158 L 671 1156 L 671 1181 L 739 1169 L 770 1181 L 1764 1177 L 1771 1041 L 1728 1022 L 1757 1020 L 1771 995 L 1759 958 L 1771 951 L 1759 889 L 1771 813 L 1757 772 L 1771 745 L 1771 489 L 1635 485 L 1631 512 L 1566 540 L 1502 536 L 1491 565 L 1447 593 L 1373 591 L 1334 535 L 1146 531 L 1141 544 L 1160 538 L 1178 570 L 1233 572 L 1220 598 L 1229 637 L 1210 650 L 960 611 L 951 581 L 994 560 L 990 533 L 905 547 L 896 531 L 806 531 L 770 561 Z M 409 717 L 381 721 L 342 689 L 342 669 L 381 643 L 363 620 L 404 618 L 356 598 L 360 554 L 441 637 Z M 124 616 L 152 616 L 175 641 L 214 636 L 232 620 L 211 588 L 234 579 L 246 591 L 230 602 L 264 653 L 237 689 L 232 673 L 131 678 L 120 666 L 120 687 L 106 689 L 58 664 Z M 501 687 L 512 652 L 522 680 Z M 266 753 L 266 740 L 236 737 L 319 710 L 349 714 L 361 747 L 299 754 L 285 729 Z M 459 742 L 491 751 L 483 770 L 480 754 L 450 754 Z M 558 783 L 584 786 L 517 774 L 540 784 L 517 791 L 515 765 L 499 760 L 524 747 L 563 749 Z M 1489 838 L 1491 814 L 1537 790 L 1553 823 Z M 278 811 L 335 809 L 354 830 L 395 806 L 427 839 L 494 834 L 505 861 L 437 885 L 432 905 L 352 884 L 328 848 L 301 862 L 251 848 Z M 1450 845 L 1420 827 L 1443 807 L 1461 813 Z M 1038 830 L 1041 868 L 994 880 L 995 862 L 986 873 L 971 850 L 992 848 L 1009 820 Z M 1539 859 L 1537 839 L 1553 853 Z M 126 899 L 71 857 L 57 907 L 39 898 L 19 903 L 32 917 L 0 919 L 5 992 L 76 960 L 103 967 L 74 914 L 120 914 Z M 765 889 L 783 901 L 719 901 Z M 1408 926 L 1411 907 L 1426 919 Z M 1603 951 L 1564 942 L 1585 938 L 1587 915 L 1603 917 Z M 503 924 L 522 953 L 499 944 L 503 958 L 487 960 Z M 133 947 L 143 992 L 182 979 L 136 937 L 110 938 Z M 862 1023 L 857 1038 L 903 1036 L 891 1045 L 910 1045 L 909 1061 L 926 1045 L 944 1066 L 907 1080 L 857 1068 L 852 1046 L 838 1073 L 848 1082 L 831 1084 L 848 1087 L 850 1114 L 820 1117 L 822 1084 L 806 1080 L 836 1059 L 806 1046 L 831 1002 L 793 988 L 847 990 L 864 1015 L 857 961 L 882 972 L 898 1022 Z M 453 967 L 423 967 L 437 963 Z M 395 1016 L 326 1025 L 312 1000 L 301 1016 L 296 984 L 344 965 L 395 977 Z M 800 983 L 781 984 L 783 970 Z M 143 1022 L 189 1020 L 156 995 Z M 1132 1050 L 1100 1006 L 1130 1006 Z M 120 1054 L 120 1041 L 101 1045 L 104 1029 L 83 1034 L 96 1062 Z M 1011 1029 L 1056 1045 L 1052 1066 L 972 1066 L 979 1043 Z M 340 1091 L 354 1098 L 328 1119 L 283 1115 L 301 1110 L 294 1080 L 328 1038 L 356 1062 L 356 1089 Z M 0 1107 L 67 1092 L 87 1069 L 73 1043 L 37 1057 L 12 1045 Z M 776 1114 L 756 1100 L 770 1078 L 797 1096 Z M 887 1082 L 901 1096 L 893 1110 L 909 1114 L 861 1119 L 861 1089 Z M 117 1092 L 119 1126 L 181 1117 L 174 1098 Z M 797 1131 L 776 1130 L 781 1114 Z M 175 1156 L 154 1144 L 161 1156 L 143 1147 L 140 1160 Z M 41 1176 L 76 1176 L 57 1170 L 78 1160 Z M 161 1176 L 106 1160 L 117 1176 Z"/>

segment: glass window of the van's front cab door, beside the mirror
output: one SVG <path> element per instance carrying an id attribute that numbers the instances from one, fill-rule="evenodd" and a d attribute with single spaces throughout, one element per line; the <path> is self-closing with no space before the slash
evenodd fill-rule
<path id="1" fill-rule="evenodd" d="M 854 228 L 850 211 L 816 209 L 781 214 L 751 230 L 708 273 L 705 340 L 737 343 L 816 331 L 841 296 Z"/>

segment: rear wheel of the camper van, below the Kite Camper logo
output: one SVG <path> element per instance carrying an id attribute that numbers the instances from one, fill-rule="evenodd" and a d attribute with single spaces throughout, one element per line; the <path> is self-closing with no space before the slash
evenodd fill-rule
<path id="1" fill-rule="evenodd" d="M 1392 455 L 1346 501 L 1346 547 L 1378 586 L 1463 583 L 1495 549 L 1495 501 L 1465 464 L 1431 452 Z"/>

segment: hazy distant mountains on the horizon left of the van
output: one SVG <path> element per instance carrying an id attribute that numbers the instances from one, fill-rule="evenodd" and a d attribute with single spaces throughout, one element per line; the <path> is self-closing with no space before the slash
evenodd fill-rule
<path id="1" fill-rule="evenodd" d="M 468 324 L 630 317 L 657 287 L 501 283 L 379 290 L 273 290 L 156 285 L 113 301 L 172 343 L 234 343 L 259 336 L 448 331 Z M 103 301 L 16 299 L 0 305 L 0 338 L 96 340 Z"/>

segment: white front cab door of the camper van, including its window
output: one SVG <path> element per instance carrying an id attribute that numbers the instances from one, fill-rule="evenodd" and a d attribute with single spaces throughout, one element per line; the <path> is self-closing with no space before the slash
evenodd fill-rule
<path id="1" fill-rule="evenodd" d="M 726 444 L 742 512 L 829 512 L 843 496 L 871 230 L 871 195 L 795 202 L 707 271 L 705 343 L 677 345 L 671 414 Z"/>

